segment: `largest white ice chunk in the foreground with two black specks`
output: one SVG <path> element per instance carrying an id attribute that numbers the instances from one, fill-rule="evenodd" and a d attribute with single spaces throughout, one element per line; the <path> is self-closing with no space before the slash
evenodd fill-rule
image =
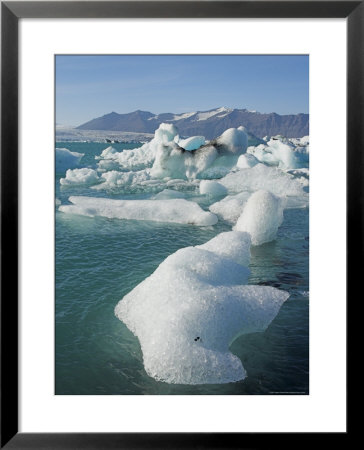
<path id="1" fill-rule="evenodd" d="M 177 384 L 246 377 L 229 345 L 264 331 L 288 298 L 272 287 L 242 285 L 249 246 L 249 235 L 229 232 L 178 250 L 118 303 L 115 314 L 139 338 L 149 376 Z"/>

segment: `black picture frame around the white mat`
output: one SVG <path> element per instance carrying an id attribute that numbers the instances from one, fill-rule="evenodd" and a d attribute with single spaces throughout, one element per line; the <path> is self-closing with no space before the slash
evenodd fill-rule
<path id="1" fill-rule="evenodd" d="M 312 439 L 327 445 L 325 433 L 18 433 L 18 22 L 116 17 L 347 19 L 347 304 L 364 273 L 364 1 L 1 2 L 1 448 L 292 448 Z M 346 433 L 330 435 L 347 445 L 349 430 L 347 420 Z"/>

